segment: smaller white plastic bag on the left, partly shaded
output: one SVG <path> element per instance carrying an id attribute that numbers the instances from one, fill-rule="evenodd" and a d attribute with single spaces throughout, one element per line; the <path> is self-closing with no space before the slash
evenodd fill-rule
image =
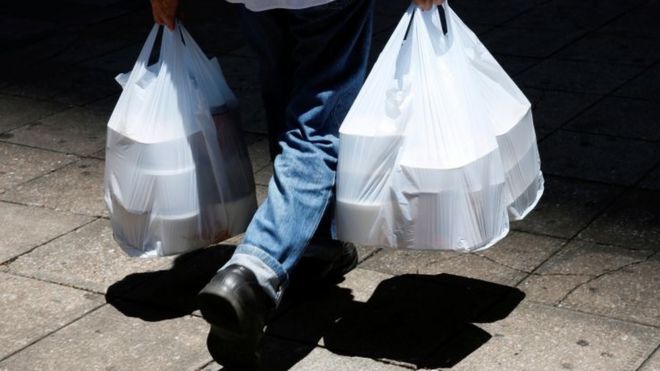
<path id="1" fill-rule="evenodd" d="M 178 254 L 224 240 L 244 231 L 256 209 L 242 137 L 233 121 L 231 130 L 222 127 L 233 138 L 218 130 L 209 106 L 235 98 L 209 93 L 226 87 L 219 68 L 204 76 L 210 88 L 197 83 L 210 70 L 200 66 L 212 61 L 200 60 L 182 31 L 180 25 L 163 31 L 160 58 L 148 66 L 154 26 L 133 70 L 117 79 L 125 83 L 108 122 L 105 201 L 115 240 L 132 256 Z M 223 148 L 226 141 L 232 150 Z"/>

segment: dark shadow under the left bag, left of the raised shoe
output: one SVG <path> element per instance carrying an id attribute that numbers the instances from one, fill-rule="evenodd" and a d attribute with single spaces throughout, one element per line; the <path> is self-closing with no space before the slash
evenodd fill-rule
<path id="1" fill-rule="evenodd" d="M 145 321 L 191 314 L 198 309 L 197 293 L 234 249 L 234 245 L 215 245 L 177 257 L 168 270 L 130 274 L 108 288 L 106 301 L 124 315 Z"/>

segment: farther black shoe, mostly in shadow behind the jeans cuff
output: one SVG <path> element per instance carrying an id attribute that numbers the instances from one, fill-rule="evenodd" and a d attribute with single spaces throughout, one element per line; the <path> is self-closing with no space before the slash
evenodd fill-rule
<path id="1" fill-rule="evenodd" d="M 325 259 L 311 256 L 300 258 L 291 273 L 289 289 L 337 283 L 357 266 L 358 253 L 353 243 L 336 240 L 326 243 L 336 245 L 336 254 Z"/>

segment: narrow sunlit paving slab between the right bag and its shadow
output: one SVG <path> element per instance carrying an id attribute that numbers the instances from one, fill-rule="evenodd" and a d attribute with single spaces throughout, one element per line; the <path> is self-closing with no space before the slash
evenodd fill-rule
<path id="1" fill-rule="evenodd" d="M 361 267 L 387 274 L 448 273 L 503 285 L 514 285 L 526 275 L 477 254 L 434 251 L 384 249 Z"/>

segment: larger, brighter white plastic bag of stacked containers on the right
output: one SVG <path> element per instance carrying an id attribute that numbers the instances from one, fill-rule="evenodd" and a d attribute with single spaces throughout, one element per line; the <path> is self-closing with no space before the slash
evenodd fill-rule
<path id="1" fill-rule="evenodd" d="M 446 34 L 437 9 L 408 9 L 340 128 L 341 240 L 485 249 L 543 193 L 529 101 L 440 10 Z"/>

